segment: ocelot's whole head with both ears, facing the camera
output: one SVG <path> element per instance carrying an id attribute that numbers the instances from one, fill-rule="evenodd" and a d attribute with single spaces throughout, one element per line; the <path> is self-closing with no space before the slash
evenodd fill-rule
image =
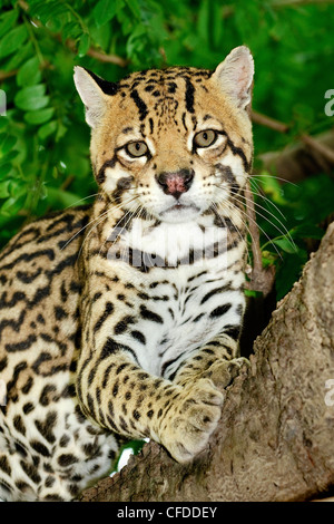
<path id="1" fill-rule="evenodd" d="M 252 164 L 253 74 L 246 47 L 215 71 L 151 69 L 117 84 L 76 67 L 95 176 L 110 203 L 174 223 L 228 205 Z"/>

